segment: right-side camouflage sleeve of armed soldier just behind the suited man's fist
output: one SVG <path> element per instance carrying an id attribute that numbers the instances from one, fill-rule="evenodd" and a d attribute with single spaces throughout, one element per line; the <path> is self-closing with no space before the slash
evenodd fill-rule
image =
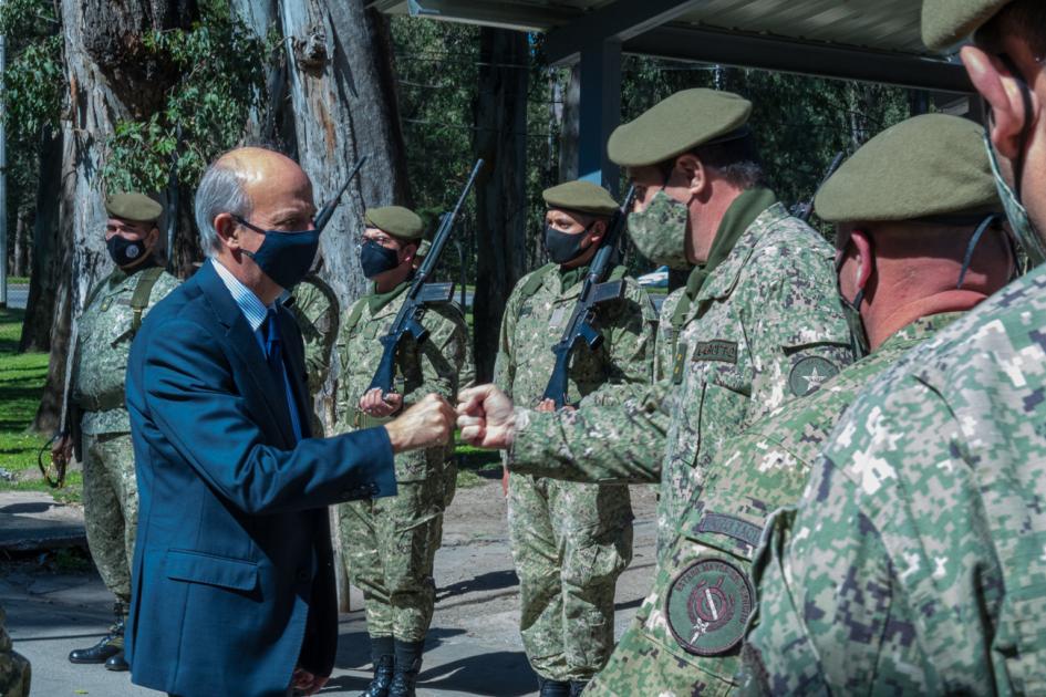
<path id="1" fill-rule="evenodd" d="M 411 404 L 427 394 L 437 395 L 454 402 L 462 379 L 462 368 L 466 364 L 468 329 L 465 318 L 456 305 L 434 308 L 424 319 L 428 337 L 422 342 L 418 355 L 422 382 L 403 396 L 404 404 Z"/>

